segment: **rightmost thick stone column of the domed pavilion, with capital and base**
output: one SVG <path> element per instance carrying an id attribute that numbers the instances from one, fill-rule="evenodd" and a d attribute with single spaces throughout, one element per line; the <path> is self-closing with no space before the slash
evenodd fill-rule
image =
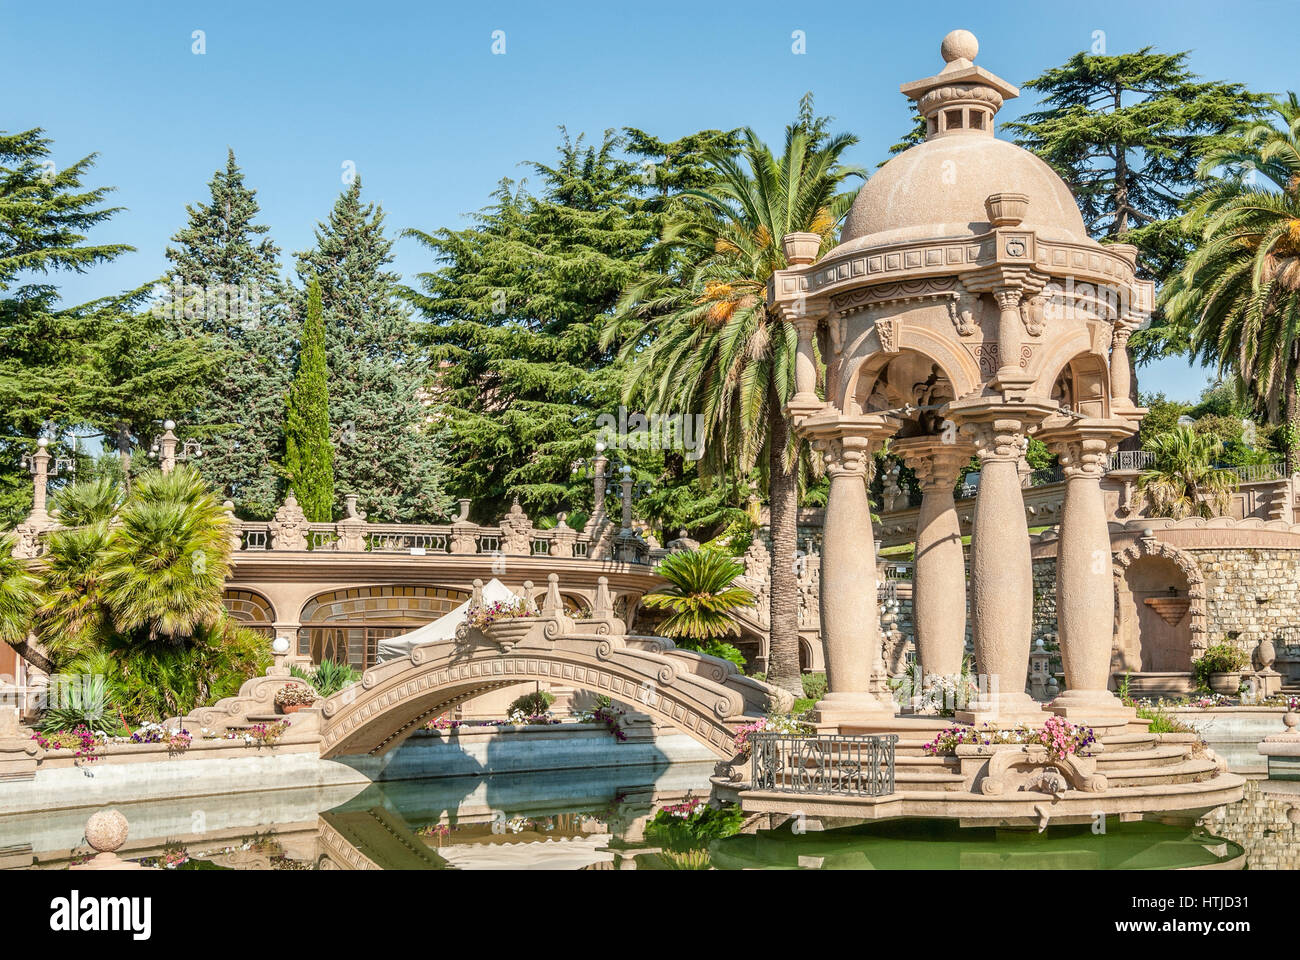
<path id="1" fill-rule="evenodd" d="M 1078 420 L 1053 421 L 1040 433 L 1065 471 L 1056 600 L 1066 688 L 1048 709 L 1070 719 L 1135 715 L 1108 689 L 1115 594 L 1101 496 L 1106 455 L 1131 432 L 1123 421 Z"/>

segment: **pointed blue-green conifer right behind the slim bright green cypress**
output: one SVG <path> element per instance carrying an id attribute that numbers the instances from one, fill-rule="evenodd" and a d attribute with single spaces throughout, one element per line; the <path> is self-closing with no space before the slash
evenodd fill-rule
<path id="1" fill-rule="evenodd" d="M 422 394 L 428 363 L 394 299 L 391 250 L 384 211 L 361 203 L 358 177 L 317 225 L 315 248 L 298 254 L 298 274 L 320 282 L 335 488 L 370 520 L 430 522 L 450 502 L 445 451 Z"/>

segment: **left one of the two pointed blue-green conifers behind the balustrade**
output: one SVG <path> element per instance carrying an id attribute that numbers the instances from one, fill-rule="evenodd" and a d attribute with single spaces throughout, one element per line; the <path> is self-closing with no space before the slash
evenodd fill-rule
<path id="1" fill-rule="evenodd" d="M 256 191 L 230 151 L 208 183 L 209 202 L 186 207 L 188 224 L 166 250 L 172 269 L 159 308 L 174 336 L 205 334 L 224 358 L 183 420 L 203 444 L 204 479 L 242 515 L 270 516 L 280 501 L 291 327 L 278 248 L 254 222 Z"/>

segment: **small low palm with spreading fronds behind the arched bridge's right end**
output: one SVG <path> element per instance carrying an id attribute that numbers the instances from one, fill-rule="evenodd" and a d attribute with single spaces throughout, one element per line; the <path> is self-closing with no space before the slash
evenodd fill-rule
<path id="1" fill-rule="evenodd" d="M 658 574 L 668 587 L 641 597 L 651 610 L 672 610 L 659 631 L 673 639 L 712 640 L 740 633 L 731 613 L 754 605 L 754 593 L 733 587 L 745 568 L 719 550 L 681 550 L 659 562 Z"/>

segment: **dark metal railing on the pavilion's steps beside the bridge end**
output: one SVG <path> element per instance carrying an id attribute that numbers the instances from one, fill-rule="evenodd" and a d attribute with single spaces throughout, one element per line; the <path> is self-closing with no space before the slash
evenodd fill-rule
<path id="1" fill-rule="evenodd" d="M 788 736 L 753 734 L 750 783 L 777 793 L 884 796 L 894 792 L 896 734 Z"/>

